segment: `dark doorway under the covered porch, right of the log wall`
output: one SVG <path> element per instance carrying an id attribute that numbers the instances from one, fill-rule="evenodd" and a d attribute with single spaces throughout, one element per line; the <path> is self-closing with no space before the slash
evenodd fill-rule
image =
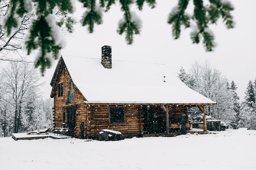
<path id="1" fill-rule="evenodd" d="M 156 106 L 145 106 L 143 109 L 143 131 L 145 134 L 165 133 L 166 120 L 163 109 Z"/>

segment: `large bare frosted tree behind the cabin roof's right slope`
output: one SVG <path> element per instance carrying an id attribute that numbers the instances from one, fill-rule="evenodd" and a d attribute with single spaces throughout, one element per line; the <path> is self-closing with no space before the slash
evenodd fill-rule
<path id="1" fill-rule="evenodd" d="M 194 80 L 193 90 L 217 102 L 216 105 L 207 107 L 207 114 L 230 122 L 235 112 L 233 93 L 227 85 L 226 76 L 220 70 L 212 68 L 207 60 L 203 64 L 196 60 L 191 65 L 189 74 Z"/>

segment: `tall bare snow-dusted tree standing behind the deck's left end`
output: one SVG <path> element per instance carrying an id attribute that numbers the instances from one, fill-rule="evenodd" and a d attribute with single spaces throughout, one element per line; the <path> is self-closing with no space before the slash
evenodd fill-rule
<path id="1" fill-rule="evenodd" d="M 14 108 L 13 132 L 17 133 L 21 123 L 23 103 L 30 98 L 29 92 L 35 91 L 42 84 L 38 84 L 40 77 L 28 63 L 10 62 L 8 66 L 2 68 L 2 74 L 3 92 L 9 97 L 4 100 Z"/>

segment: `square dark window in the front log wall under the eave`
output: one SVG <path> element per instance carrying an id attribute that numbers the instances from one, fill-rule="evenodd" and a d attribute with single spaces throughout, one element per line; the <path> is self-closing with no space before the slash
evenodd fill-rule
<path id="1" fill-rule="evenodd" d="M 124 122 L 124 107 L 110 107 L 110 123 Z"/>

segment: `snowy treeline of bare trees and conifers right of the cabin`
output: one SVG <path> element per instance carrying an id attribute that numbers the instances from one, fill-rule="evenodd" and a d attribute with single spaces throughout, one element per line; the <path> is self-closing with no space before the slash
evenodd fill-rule
<path id="1" fill-rule="evenodd" d="M 217 102 L 216 105 L 206 106 L 206 115 L 228 122 L 232 129 L 248 128 L 256 130 L 256 78 L 249 80 L 244 99 L 236 92 L 234 81 L 212 68 L 209 61 L 191 64 L 188 72 L 181 67 L 178 78 L 189 88 Z M 190 118 L 200 115 L 197 107 L 189 108 Z"/>

